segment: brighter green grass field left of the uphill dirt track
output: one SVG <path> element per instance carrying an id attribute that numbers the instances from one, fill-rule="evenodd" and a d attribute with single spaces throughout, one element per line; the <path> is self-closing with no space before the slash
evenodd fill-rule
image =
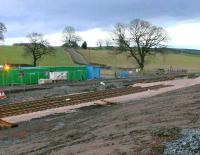
<path id="1" fill-rule="evenodd" d="M 24 57 L 22 46 L 0 46 L 0 64 L 32 64 L 29 57 Z M 39 62 L 41 66 L 71 66 L 73 62 L 63 48 L 56 47 L 55 55 L 47 55 Z"/>

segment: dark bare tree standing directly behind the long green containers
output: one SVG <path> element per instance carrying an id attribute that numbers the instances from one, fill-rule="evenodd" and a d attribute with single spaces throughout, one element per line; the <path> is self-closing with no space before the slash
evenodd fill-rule
<path id="1" fill-rule="evenodd" d="M 31 33 L 27 35 L 27 38 L 29 38 L 30 43 L 25 45 L 25 56 L 32 58 L 34 66 L 37 66 L 38 61 L 44 55 L 55 52 L 41 33 Z"/>

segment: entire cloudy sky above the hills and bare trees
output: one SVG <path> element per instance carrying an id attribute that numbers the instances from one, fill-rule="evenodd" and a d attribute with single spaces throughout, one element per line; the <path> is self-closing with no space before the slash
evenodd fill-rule
<path id="1" fill-rule="evenodd" d="M 171 37 L 169 46 L 200 49 L 199 0 L 0 0 L 0 4 L 0 22 L 8 29 L 5 44 L 40 32 L 52 45 L 60 45 L 63 28 L 71 25 L 95 46 L 98 39 L 109 38 L 117 22 L 141 18 L 164 27 Z"/>

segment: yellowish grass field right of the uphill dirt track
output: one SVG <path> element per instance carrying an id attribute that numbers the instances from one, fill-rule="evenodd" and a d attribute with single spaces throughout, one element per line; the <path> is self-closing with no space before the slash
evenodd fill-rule
<path id="1" fill-rule="evenodd" d="M 79 52 L 91 63 L 107 64 L 113 67 L 137 67 L 132 58 L 127 58 L 125 54 L 116 55 L 113 51 L 108 50 L 83 50 Z M 200 55 L 186 53 L 171 53 L 161 55 L 150 55 L 146 58 L 146 70 L 157 68 L 188 69 L 189 71 L 200 71 Z"/>

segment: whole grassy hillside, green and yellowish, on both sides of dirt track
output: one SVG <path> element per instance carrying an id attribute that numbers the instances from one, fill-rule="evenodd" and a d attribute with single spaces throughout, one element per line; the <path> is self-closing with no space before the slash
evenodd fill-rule
<path id="1" fill-rule="evenodd" d="M 69 54 L 61 47 L 55 47 L 55 55 L 47 55 L 39 62 L 40 66 L 72 66 Z M 137 64 L 125 54 L 116 54 L 111 50 L 78 49 L 88 62 L 106 64 L 113 68 L 136 68 Z M 22 46 L 0 46 L 0 64 L 31 64 L 29 57 L 24 57 Z M 200 72 L 200 55 L 167 53 L 147 56 L 145 70 L 158 68 L 187 69 L 190 72 Z"/>

